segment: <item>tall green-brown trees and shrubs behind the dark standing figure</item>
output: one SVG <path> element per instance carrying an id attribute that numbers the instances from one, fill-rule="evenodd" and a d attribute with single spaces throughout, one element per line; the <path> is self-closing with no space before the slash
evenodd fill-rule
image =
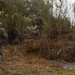
<path id="1" fill-rule="evenodd" d="M 67 4 L 66 0 L 65 3 Z M 63 33 L 71 30 L 67 12 L 64 0 L 59 0 L 59 3 L 56 0 L 0 0 L 0 23 L 1 27 L 7 29 L 9 39 L 28 32 L 27 26 L 32 25 L 31 22 L 38 13 L 43 18 L 44 33 L 51 39 L 58 36 L 61 38 Z"/>

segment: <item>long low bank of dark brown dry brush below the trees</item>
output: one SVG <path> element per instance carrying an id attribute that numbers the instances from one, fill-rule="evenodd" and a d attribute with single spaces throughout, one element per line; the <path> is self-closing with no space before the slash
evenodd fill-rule
<path id="1" fill-rule="evenodd" d="M 75 43 L 67 41 L 52 42 L 48 39 L 38 40 L 25 40 L 22 45 L 7 46 L 4 51 L 4 56 L 27 56 L 27 55 L 39 55 L 48 60 L 65 60 L 75 61 Z"/>

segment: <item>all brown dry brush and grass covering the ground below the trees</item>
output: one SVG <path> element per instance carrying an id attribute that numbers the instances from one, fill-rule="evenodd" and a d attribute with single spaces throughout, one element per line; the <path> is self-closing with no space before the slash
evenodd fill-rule
<path id="1" fill-rule="evenodd" d="M 21 45 L 8 45 L 3 48 L 4 60 L 0 61 L 0 73 L 1 75 L 52 75 L 59 70 L 73 70 L 75 67 L 72 65 L 68 64 L 69 67 L 65 68 L 67 63 L 57 60 L 75 61 L 74 48 L 74 43 L 53 42 L 48 38 L 25 40 Z"/>

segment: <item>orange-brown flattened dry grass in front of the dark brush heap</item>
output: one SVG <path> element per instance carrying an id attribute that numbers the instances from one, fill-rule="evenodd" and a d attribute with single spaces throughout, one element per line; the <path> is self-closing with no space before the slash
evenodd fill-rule
<path id="1" fill-rule="evenodd" d="M 32 41 L 33 40 L 30 42 Z M 52 68 L 56 68 L 57 70 L 60 68 L 63 69 L 60 64 L 41 58 L 41 56 L 37 55 L 37 52 L 33 50 L 36 49 L 36 45 L 32 47 L 33 44 L 30 44 L 29 41 L 27 42 L 29 45 L 9 45 L 4 47 L 4 60 L 0 61 L 1 75 L 46 75 L 53 72 Z M 39 41 L 36 42 L 39 43 Z M 32 49 L 30 47 L 32 47 Z"/>

